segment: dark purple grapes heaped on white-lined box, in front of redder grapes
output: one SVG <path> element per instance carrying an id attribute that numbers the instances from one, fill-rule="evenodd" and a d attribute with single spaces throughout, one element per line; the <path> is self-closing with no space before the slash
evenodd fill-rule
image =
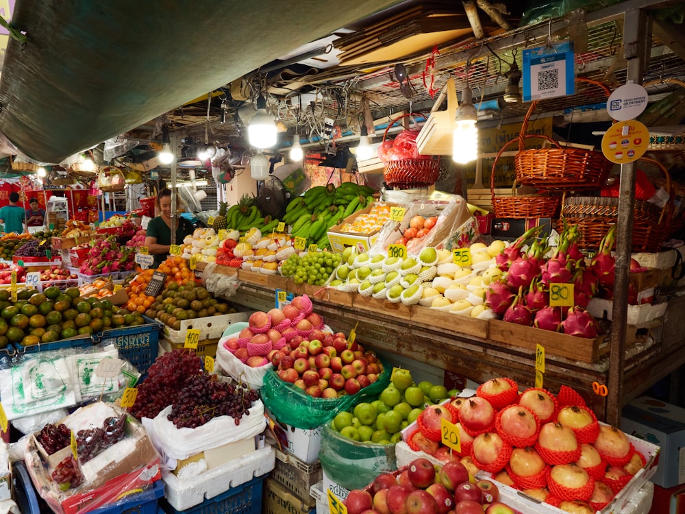
<path id="1" fill-rule="evenodd" d="M 197 428 L 214 417 L 230 416 L 239 425 L 258 398 L 259 393 L 247 384 L 236 386 L 219 382 L 216 375 L 197 375 L 186 382 L 167 419 L 177 428 Z"/>

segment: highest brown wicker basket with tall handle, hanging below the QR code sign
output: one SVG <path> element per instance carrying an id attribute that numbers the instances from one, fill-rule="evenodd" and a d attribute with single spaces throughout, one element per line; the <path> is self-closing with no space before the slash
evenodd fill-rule
<path id="1" fill-rule="evenodd" d="M 580 79 L 577 79 L 580 80 Z M 607 96 L 609 89 L 601 82 L 582 79 L 601 87 Z M 525 134 L 528 121 L 538 102 L 532 101 L 523 117 L 519 132 L 519 153 L 514 156 L 516 182 L 541 189 L 595 189 L 604 185 L 613 166 L 612 162 L 599 151 L 580 148 L 562 148 L 548 136 L 528 136 Z M 543 138 L 553 148 L 525 149 L 526 138 Z"/>

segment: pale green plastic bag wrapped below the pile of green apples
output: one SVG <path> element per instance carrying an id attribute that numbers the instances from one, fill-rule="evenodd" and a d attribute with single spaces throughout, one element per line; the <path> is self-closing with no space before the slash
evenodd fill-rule
<path id="1" fill-rule="evenodd" d="M 364 489 L 379 474 L 397 469 L 394 444 L 352 441 L 327 426 L 319 459 L 326 476 L 346 489 Z"/>

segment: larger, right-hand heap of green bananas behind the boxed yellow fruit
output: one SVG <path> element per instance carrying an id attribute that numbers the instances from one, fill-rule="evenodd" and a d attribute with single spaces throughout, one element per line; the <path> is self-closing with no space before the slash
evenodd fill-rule
<path id="1" fill-rule="evenodd" d="M 343 182 L 310 188 L 304 195 L 290 201 L 284 222 L 291 225 L 293 237 L 307 239 L 307 244 L 319 248 L 329 246 L 328 230 L 354 212 L 369 206 L 373 201 L 373 188 L 354 182 Z"/>

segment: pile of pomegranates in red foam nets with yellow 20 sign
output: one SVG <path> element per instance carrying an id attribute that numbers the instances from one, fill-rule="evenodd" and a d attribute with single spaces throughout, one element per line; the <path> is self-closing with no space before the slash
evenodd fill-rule
<path id="1" fill-rule="evenodd" d="M 568 387 L 556 397 L 532 388 L 519 395 L 509 378 L 488 380 L 473 397 L 427 408 L 407 443 L 436 455 L 440 418 L 456 423 L 455 458 L 472 474 L 490 472 L 541 502 L 586 509 L 580 512 L 603 509 L 646 463 L 621 430 L 600 425 Z"/>

